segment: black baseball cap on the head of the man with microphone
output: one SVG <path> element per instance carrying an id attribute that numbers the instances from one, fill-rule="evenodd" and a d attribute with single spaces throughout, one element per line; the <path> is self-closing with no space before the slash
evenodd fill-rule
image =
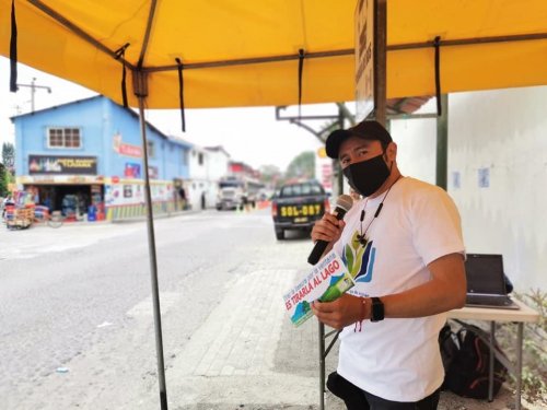
<path id="1" fill-rule="evenodd" d="M 393 141 L 392 136 L 387 130 L 375 120 L 364 120 L 348 129 L 339 129 L 327 137 L 325 149 L 327 155 L 333 160 L 338 160 L 338 151 L 340 144 L 349 137 L 359 137 L 364 140 L 377 140 L 382 145 L 387 145 Z"/>

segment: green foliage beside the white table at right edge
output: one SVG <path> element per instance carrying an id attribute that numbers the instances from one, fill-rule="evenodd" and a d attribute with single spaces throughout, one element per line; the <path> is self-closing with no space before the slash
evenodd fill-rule
<path id="1" fill-rule="evenodd" d="M 547 293 L 537 289 L 528 293 L 514 293 L 514 296 L 539 313 L 536 324 L 526 324 L 524 327 L 522 393 L 528 401 L 547 405 Z M 503 324 L 497 336 L 503 351 L 514 360 L 516 326 Z M 515 382 L 512 376 L 513 388 Z"/>

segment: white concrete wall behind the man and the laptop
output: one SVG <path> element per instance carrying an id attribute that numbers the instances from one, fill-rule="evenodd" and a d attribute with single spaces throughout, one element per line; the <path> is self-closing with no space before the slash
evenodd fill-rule
<path id="1" fill-rule="evenodd" d="M 447 188 L 466 249 L 502 254 L 521 291 L 547 290 L 546 101 L 545 86 L 449 96 Z M 395 120 L 392 132 L 404 175 L 434 183 L 435 120 Z"/>

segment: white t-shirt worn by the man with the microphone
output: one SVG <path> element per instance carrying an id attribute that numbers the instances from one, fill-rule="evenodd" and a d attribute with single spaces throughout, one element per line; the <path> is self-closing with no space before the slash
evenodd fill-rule
<path id="1" fill-rule="evenodd" d="M 444 190 L 401 178 L 374 219 L 384 195 L 353 203 L 335 244 L 357 281 L 350 291 L 354 295 L 381 297 L 416 288 L 430 280 L 430 262 L 444 255 L 464 254 L 459 214 Z M 357 235 L 366 226 L 369 242 L 363 247 Z M 350 325 L 340 333 L 338 373 L 386 400 L 421 400 L 444 378 L 438 338 L 445 320 L 446 315 L 439 314 L 364 320 L 361 328 Z"/>

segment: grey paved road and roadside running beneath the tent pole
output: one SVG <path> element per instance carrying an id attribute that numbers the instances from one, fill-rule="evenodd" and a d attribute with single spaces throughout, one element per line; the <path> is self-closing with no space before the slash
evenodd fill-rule
<path id="1" fill-rule="evenodd" d="M 282 304 L 310 241 L 277 242 L 267 211 L 155 226 L 170 409 L 318 409 L 317 325 Z M 143 222 L 0 229 L 0 409 L 159 409 L 149 272 Z"/>

